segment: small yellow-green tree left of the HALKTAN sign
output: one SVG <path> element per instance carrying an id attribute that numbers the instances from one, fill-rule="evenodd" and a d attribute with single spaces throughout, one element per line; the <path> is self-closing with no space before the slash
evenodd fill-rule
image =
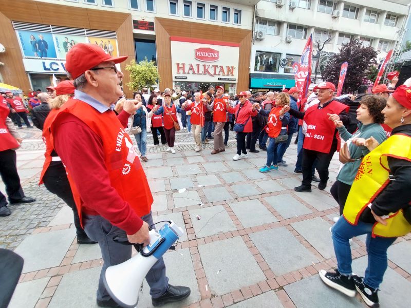
<path id="1" fill-rule="evenodd" d="M 139 64 L 134 60 L 130 61 L 130 64 L 127 64 L 125 69 L 130 72 L 130 82 L 127 83 L 130 91 L 138 91 L 160 82 L 160 75 L 155 62 L 148 62 L 147 57 L 140 61 Z"/>

